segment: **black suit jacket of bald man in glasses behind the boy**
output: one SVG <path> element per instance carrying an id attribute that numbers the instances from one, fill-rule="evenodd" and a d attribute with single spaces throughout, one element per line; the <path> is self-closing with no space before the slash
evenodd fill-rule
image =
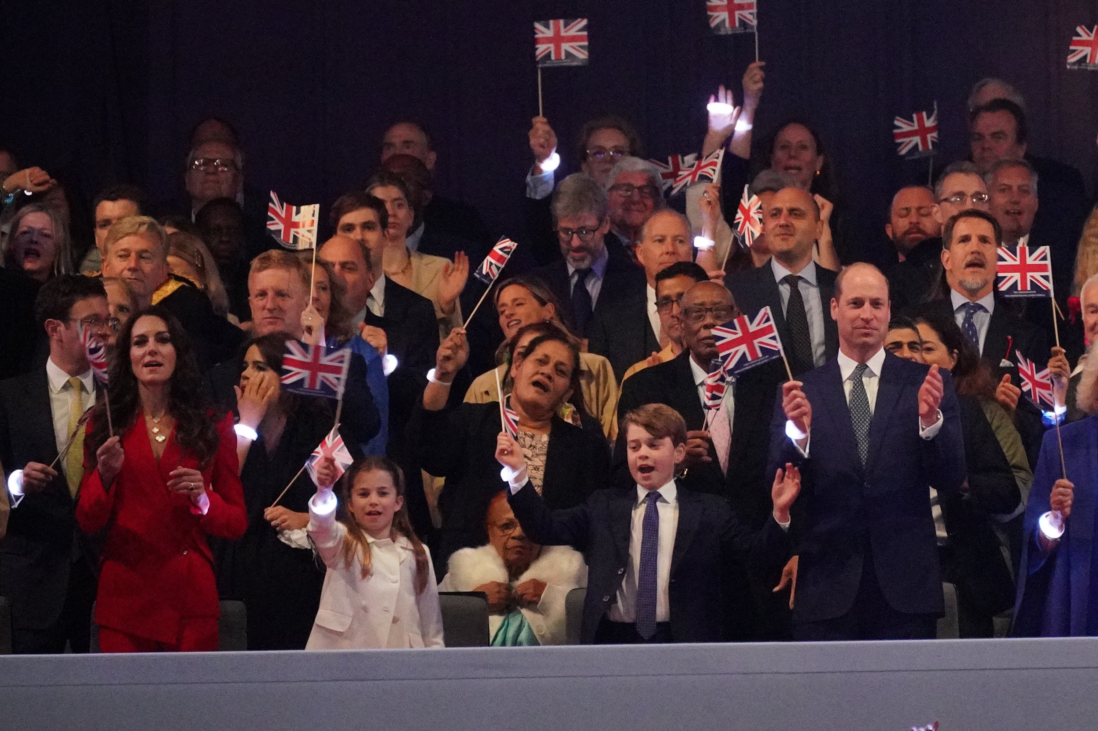
<path id="1" fill-rule="evenodd" d="M 705 412 L 694 374 L 690 367 L 690 351 L 659 366 L 634 373 L 621 384 L 618 415 L 645 404 L 665 404 L 679 412 L 688 430 L 702 429 Z M 778 364 L 778 368 L 782 368 Z M 728 395 L 736 400 L 732 418 L 732 441 L 728 450 L 728 474 L 721 474 L 717 453 L 709 446 L 710 462 L 690 468 L 679 484 L 692 492 L 709 493 L 728 501 L 737 514 L 752 526 L 761 526 L 771 514 L 770 482 L 764 479 L 769 452 L 770 429 L 762 414 L 773 408 L 776 389 L 770 376 L 761 378 L 760 369 L 751 370 L 737 379 Z M 783 373 L 784 373 L 784 369 Z M 614 448 L 614 485 L 625 487 L 634 483 L 626 462 L 626 434 L 618 431 Z"/>

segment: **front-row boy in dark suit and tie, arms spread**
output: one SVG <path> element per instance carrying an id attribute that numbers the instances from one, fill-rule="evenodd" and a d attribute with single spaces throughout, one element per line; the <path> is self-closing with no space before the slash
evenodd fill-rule
<path id="1" fill-rule="evenodd" d="M 584 554 L 584 643 L 719 641 L 724 550 L 750 552 L 761 571 L 781 566 L 800 474 L 792 465 L 777 471 L 773 519 L 755 532 L 719 497 L 676 485 L 675 469 L 686 456 L 686 424 L 677 412 L 647 404 L 626 414 L 621 430 L 636 485 L 598 491 L 567 510 L 549 510 L 527 486 L 522 450 L 501 432 L 495 457 L 515 517 L 535 542 L 568 544 Z"/>

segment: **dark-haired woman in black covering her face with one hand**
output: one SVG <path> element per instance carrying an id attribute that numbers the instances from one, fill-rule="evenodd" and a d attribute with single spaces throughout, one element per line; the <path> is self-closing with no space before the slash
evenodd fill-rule
<path id="1" fill-rule="evenodd" d="M 305 536 L 316 488 L 300 470 L 333 421 L 317 398 L 281 389 L 282 355 L 291 339 L 270 333 L 246 342 L 236 386 L 238 424 L 256 439 L 237 440 L 248 529 L 224 551 L 231 560 L 221 563 L 221 588 L 247 605 L 248 650 L 304 650 L 324 583 L 324 567 L 313 560 Z M 357 457 L 357 445 L 345 443 Z"/>

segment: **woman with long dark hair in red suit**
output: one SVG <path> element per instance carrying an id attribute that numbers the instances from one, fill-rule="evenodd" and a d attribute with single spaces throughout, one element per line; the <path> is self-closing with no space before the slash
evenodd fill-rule
<path id="1" fill-rule="evenodd" d="M 232 414 L 219 419 L 179 322 L 154 306 L 119 336 L 85 443 L 77 520 L 105 529 L 96 622 L 103 652 L 217 649 L 217 586 L 205 536 L 248 526 Z"/>

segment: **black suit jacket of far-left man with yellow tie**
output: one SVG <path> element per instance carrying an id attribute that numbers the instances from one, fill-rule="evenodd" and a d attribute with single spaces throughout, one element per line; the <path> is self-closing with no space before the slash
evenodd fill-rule
<path id="1" fill-rule="evenodd" d="M 49 464 L 57 457 L 49 382 L 45 363 L 0 383 L 0 460 L 8 475 L 27 462 Z M 45 490 L 12 508 L 8 535 L 0 540 L 0 595 L 11 603 L 16 629 L 45 629 L 65 607 L 74 547 L 98 574 L 92 542 L 77 529 L 76 501 L 64 469 Z"/>

